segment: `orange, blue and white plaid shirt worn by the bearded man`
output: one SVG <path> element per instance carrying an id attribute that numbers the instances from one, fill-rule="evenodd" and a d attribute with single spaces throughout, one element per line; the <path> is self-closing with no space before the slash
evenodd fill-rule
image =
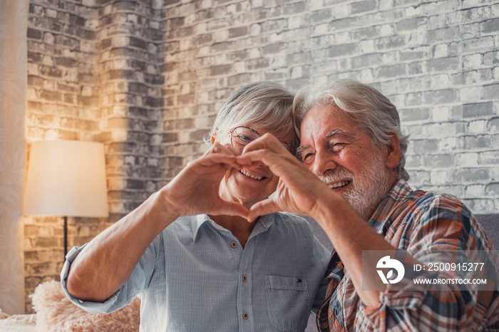
<path id="1" fill-rule="evenodd" d="M 411 190 L 399 180 L 369 224 L 396 249 L 483 250 L 499 268 L 493 244 L 470 211 L 451 195 Z M 497 271 L 494 274 L 497 282 Z M 408 292 L 390 291 L 389 285 L 381 293 L 381 304 L 369 308 L 336 251 L 326 277 L 326 301 L 317 313 L 320 331 L 499 331 L 497 290 Z"/>

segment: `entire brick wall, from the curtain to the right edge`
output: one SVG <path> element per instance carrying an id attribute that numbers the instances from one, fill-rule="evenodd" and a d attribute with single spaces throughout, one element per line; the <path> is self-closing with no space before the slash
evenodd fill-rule
<path id="1" fill-rule="evenodd" d="M 499 1 L 31 0 L 29 141 L 106 146 L 109 219 L 69 219 L 81 245 L 206 148 L 237 86 L 354 78 L 398 106 L 413 187 L 499 209 Z M 26 294 L 58 279 L 61 218 L 26 218 Z M 29 299 L 26 308 L 30 310 Z"/>

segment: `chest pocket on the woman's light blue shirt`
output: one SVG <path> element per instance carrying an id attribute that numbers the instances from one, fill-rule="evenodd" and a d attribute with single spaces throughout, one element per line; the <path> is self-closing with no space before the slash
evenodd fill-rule
<path id="1" fill-rule="evenodd" d="M 310 313 L 307 280 L 265 276 L 265 299 L 272 324 L 279 331 L 304 331 Z"/>

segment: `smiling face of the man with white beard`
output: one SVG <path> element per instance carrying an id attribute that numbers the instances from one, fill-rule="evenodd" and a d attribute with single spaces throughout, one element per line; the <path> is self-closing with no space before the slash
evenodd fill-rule
<path id="1" fill-rule="evenodd" d="M 390 190 L 386 149 L 377 147 L 343 110 L 314 105 L 301 126 L 298 155 L 304 165 L 369 219 Z"/>

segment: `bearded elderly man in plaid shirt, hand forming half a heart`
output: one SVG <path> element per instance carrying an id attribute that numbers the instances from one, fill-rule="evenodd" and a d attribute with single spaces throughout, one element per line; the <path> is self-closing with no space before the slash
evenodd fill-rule
<path id="1" fill-rule="evenodd" d="M 493 244 L 456 197 L 408 186 L 407 137 L 401 134 L 396 107 L 388 98 L 356 81 L 336 81 L 325 90 L 302 90 L 294 107 L 301 114 L 297 152 L 302 162 L 286 155 L 271 135 L 247 145 L 237 162 L 262 162 L 280 177 L 276 194 L 251 207 L 250 220 L 274 211 L 306 214 L 317 220 L 334 245 L 326 273 L 328 295 L 317 315 L 319 329 L 498 329 L 499 257 Z M 363 266 L 363 251 L 396 257 L 400 249 L 406 252 L 400 259 L 404 266 L 428 266 L 440 251 L 485 253 L 488 289 L 450 281 L 438 288 L 396 288 L 398 277 L 389 273 L 390 281 L 381 282 L 376 264 Z M 458 276 L 456 268 L 424 273 L 441 280 Z M 403 272 L 397 270 L 398 274 L 403 277 Z M 408 278 L 413 274 L 406 268 Z"/>

